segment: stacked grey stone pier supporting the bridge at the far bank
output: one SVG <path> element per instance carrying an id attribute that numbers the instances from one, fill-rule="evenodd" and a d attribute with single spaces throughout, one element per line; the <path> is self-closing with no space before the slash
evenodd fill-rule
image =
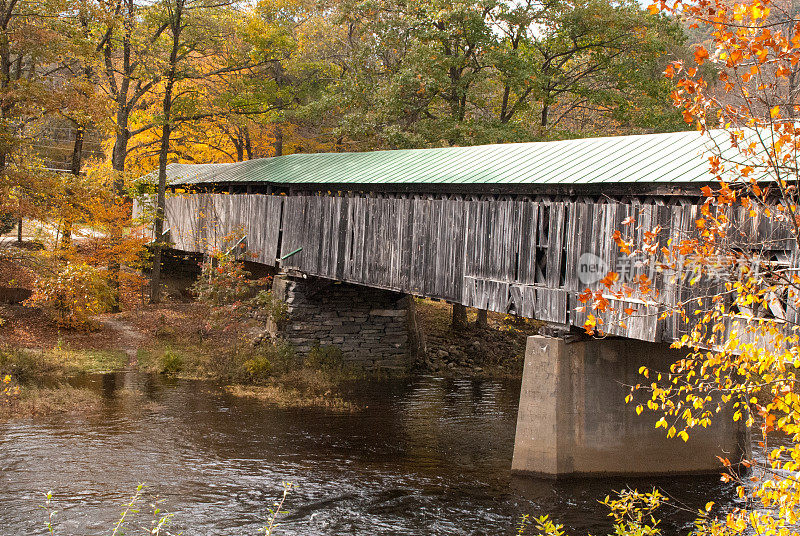
<path id="1" fill-rule="evenodd" d="M 281 335 L 299 354 L 336 347 L 346 361 L 368 369 L 407 366 L 407 296 L 285 275 L 275 277 L 273 288 L 288 308 Z"/>

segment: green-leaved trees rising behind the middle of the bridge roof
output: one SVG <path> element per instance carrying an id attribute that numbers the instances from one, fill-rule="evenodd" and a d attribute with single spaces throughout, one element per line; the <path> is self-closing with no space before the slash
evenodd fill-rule
<path id="1" fill-rule="evenodd" d="M 634 3 L 371 0 L 339 10 L 350 46 L 325 99 L 337 132 L 362 147 L 683 128 L 659 75 L 680 30 Z"/>

